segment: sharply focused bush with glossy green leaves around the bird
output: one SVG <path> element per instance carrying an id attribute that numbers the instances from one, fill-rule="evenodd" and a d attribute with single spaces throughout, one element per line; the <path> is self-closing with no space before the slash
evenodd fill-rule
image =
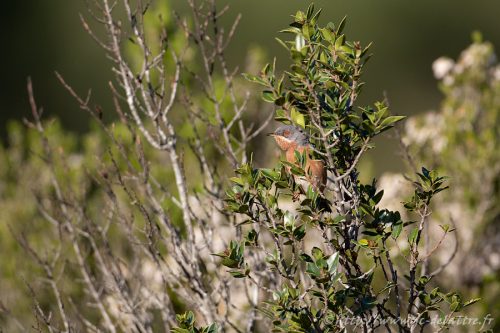
<path id="1" fill-rule="evenodd" d="M 404 205 L 417 221 L 403 221 L 399 212 L 378 206 L 383 190 L 375 180 L 360 183 L 360 157 L 375 136 L 402 117 L 389 115 L 380 102 L 354 106 L 368 49 L 346 40 L 345 21 L 318 26 L 319 14 L 312 6 L 299 11 L 283 31 L 295 35 L 280 41 L 293 59 L 289 71 L 277 77 L 275 66 L 267 65 L 259 76 L 247 77 L 265 86 L 262 97 L 278 107 L 276 120 L 308 134 L 311 154 L 329 172 L 332 213 L 319 204 L 323 194 L 312 186 L 300 189 L 295 181 L 307 173 L 304 161 L 313 157 L 297 153 L 296 165 L 281 162 L 274 169 L 244 164 L 232 178 L 228 205 L 246 215 L 247 236 L 218 255 L 233 276 L 266 286 L 272 299 L 262 311 L 275 331 L 366 331 L 382 325 L 413 331 L 435 314 L 450 318 L 476 300 L 430 290 L 433 276 L 422 266 L 432 252 L 420 248 L 431 200 L 447 188 L 446 178 L 425 168 L 417 173 L 414 194 Z M 287 197 L 298 201 L 297 207 L 284 206 Z M 405 250 L 394 255 L 391 248 Z M 253 269 L 260 256 L 265 270 Z"/>

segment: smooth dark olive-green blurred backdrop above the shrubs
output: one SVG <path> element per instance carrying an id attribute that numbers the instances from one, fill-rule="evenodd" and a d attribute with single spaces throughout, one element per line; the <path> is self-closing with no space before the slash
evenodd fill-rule
<path id="1" fill-rule="evenodd" d="M 187 8 L 182 0 L 170 2 L 179 12 Z M 255 45 L 265 50 L 267 60 L 276 55 L 278 66 L 288 65 L 285 51 L 274 37 L 289 23 L 290 14 L 305 8 L 308 2 L 233 0 L 219 3 L 221 7 L 226 3 L 231 5 L 224 16 L 228 28 L 229 19 L 242 14 L 228 53 L 232 65 L 239 65 L 248 47 Z M 367 85 L 361 102 L 380 100 L 386 93 L 394 114 L 411 115 L 439 106 L 440 93 L 432 76 L 432 61 L 442 55 L 456 58 L 469 44 L 472 31 L 479 30 L 486 40 L 500 45 L 497 23 L 500 2 L 491 0 L 318 0 L 315 4 L 323 8 L 323 23 L 338 22 L 347 15 L 348 37 L 365 45 L 374 42 L 374 57 L 365 70 Z M 2 139 L 9 119 L 29 116 L 28 76 L 33 79 L 38 103 L 46 110 L 45 114 L 58 115 L 65 128 L 72 131 L 88 129 L 87 115 L 78 111 L 76 103 L 55 78 L 55 70 L 80 93 L 91 88 L 93 103 L 103 107 L 107 119 L 113 116 L 107 88 L 107 81 L 112 78 L 111 63 L 83 30 L 79 13 L 88 15 L 83 0 L 7 1 L 3 4 L 0 13 Z M 400 159 L 393 153 L 395 143 L 386 139 L 380 145 L 382 149 L 377 150 L 377 156 L 381 159 L 375 161 L 377 173 L 397 169 Z M 382 151 L 385 153 L 380 154 Z"/>

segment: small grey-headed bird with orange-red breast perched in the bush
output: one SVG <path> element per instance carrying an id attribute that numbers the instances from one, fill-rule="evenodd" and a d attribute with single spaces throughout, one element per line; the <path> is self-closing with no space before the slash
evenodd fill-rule
<path id="1" fill-rule="evenodd" d="M 313 188 L 321 193 L 326 187 L 326 169 L 325 163 L 322 160 L 311 159 L 309 149 L 312 148 L 309 142 L 309 137 L 301 129 L 293 125 L 283 125 L 270 134 L 276 143 L 285 151 L 286 160 L 290 163 L 296 164 L 295 152 L 302 154 L 306 151 L 306 165 L 305 172 L 306 179 L 313 186 Z"/>

